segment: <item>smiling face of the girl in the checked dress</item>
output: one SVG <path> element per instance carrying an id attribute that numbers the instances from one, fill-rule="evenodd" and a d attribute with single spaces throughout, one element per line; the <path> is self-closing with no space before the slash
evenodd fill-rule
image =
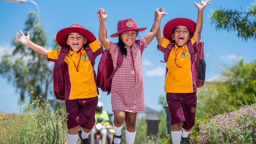
<path id="1" fill-rule="evenodd" d="M 121 34 L 121 39 L 127 46 L 132 46 L 137 37 L 137 31 L 126 31 Z"/>

